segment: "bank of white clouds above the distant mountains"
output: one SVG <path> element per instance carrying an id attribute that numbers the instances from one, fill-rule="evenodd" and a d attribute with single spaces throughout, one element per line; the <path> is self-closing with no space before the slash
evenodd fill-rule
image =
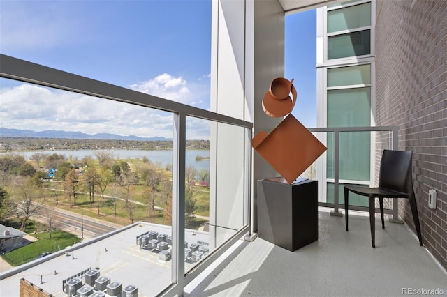
<path id="1" fill-rule="evenodd" d="M 157 85 L 185 87 L 181 77 L 169 77 L 156 77 Z M 0 125 L 5 128 L 173 137 L 170 112 L 31 84 L 2 87 L 0 98 Z M 188 138 L 209 139 L 209 133 L 209 123 L 202 121 L 189 125 Z"/>

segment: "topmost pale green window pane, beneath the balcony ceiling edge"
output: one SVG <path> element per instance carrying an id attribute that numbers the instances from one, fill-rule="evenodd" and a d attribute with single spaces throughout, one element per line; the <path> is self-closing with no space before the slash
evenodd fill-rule
<path id="1" fill-rule="evenodd" d="M 371 25 L 371 3 L 328 11 L 328 33 Z"/>

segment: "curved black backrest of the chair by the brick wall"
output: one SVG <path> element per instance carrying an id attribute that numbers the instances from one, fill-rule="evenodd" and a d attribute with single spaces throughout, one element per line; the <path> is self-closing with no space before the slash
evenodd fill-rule
<path id="1" fill-rule="evenodd" d="M 413 195 L 412 159 L 413 151 L 383 150 L 379 187 Z"/>

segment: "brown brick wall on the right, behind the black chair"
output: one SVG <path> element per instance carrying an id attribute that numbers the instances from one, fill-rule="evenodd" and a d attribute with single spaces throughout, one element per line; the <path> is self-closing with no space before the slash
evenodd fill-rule
<path id="1" fill-rule="evenodd" d="M 376 124 L 399 126 L 399 148 L 413 151 L 424 243 L 447 268 L 447 1 L 376 4 Z M 400 215 L 414 230 L 404 199 Z"/>

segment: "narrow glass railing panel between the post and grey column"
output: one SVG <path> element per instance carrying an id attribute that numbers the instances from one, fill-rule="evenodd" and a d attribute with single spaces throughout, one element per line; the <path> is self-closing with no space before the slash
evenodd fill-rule
<path id="1" fill-rule="evenodd" d="M 185 272 L 247 226 L 245 130 L 186 117 Z"/>

